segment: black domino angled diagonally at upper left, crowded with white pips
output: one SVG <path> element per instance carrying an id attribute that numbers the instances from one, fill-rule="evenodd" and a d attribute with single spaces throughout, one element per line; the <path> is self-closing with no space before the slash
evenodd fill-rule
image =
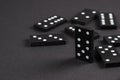
<path id="1" fill-rule="evenodd" d="M 67 20 L 61 16 L 51 16 L 47 19 L 37 22 L 34 27 L 42 31 L 49 31 L 59 25 L 66 23 Z"/>

